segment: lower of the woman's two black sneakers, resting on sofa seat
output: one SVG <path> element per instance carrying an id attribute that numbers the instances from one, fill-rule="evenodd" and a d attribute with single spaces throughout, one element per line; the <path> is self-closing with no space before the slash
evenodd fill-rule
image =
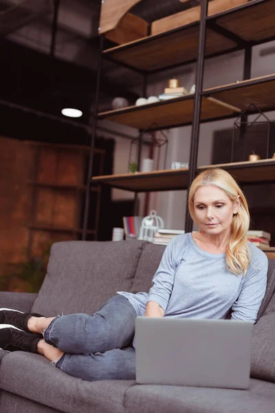
<path id="1" fill-rule="evenodd" d="M 37 353 L 37 344 L 40 339 L 40 335 L 19 330 L 14 326 L 0 326 L 1 350 Z"/>

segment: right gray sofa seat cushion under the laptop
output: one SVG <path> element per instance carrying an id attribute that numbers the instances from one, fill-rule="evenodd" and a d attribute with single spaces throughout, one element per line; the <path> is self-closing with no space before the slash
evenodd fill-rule
<path id="1" fill-rule="evenodd" d="M 251 379 L 250 390 L 133 385 L 125 413 L 274 413 L 275 384 Z"/>

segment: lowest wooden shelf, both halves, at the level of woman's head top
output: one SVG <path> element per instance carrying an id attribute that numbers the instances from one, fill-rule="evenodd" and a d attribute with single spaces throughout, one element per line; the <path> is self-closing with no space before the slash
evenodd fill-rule
<path id="1" fill-rule="evenodd" d="M 207 165 L 203 169 L 221 167 L 228 171 L 239 182 L 272 182 L 275 181 L 275 159 L 263 159 L 256 162 L 233 162 L 229 164 Z M 123 173 L 121 175 L 95 176 L 92 182 L 107 184 L 113 188 L 134 192 L 177 191 L 187 189 L 189 171 L 186 168 L 164 169 L 161 171 Z"/>

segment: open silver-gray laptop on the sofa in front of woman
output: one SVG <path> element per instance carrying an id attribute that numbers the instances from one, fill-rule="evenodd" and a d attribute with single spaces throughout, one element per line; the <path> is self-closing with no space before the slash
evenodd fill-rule
<path id="1" fill-rule="evenodd" d="M 137 317 L 136 381 L 247 389 L 252 323 Z"/>

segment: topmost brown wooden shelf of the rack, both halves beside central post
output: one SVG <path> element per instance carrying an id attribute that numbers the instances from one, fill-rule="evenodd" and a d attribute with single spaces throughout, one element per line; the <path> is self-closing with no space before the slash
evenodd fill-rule
<path id="1" fill-rule="evenodd" d="M 274 14 L 274 0 L 252 0 L 208 17 L 206 57 L 244 48 L 245 42 L 254 45 L 275 39 Z M 233 36 L 225 37 L 222 29 Z M 104 50 L 103 56 L 137 70 L 153 72 L 196 61 L 198 41 L 199 21 L 111 47 Z"/>

